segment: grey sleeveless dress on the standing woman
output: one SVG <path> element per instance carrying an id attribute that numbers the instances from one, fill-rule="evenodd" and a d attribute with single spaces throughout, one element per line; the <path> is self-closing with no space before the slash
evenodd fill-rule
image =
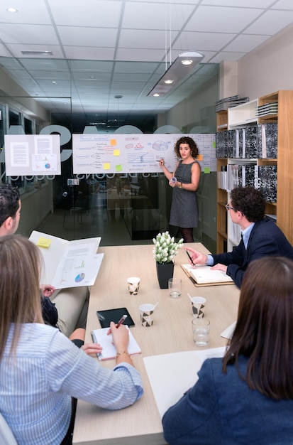
<path id="1" fill-rule="evenodd" d="M 182 161 L 179 161 L 175 171 L 177 181 L 182 182 L 182 184 L 190 184 L 192 182 L 192 166 L 195 162 L 197 161 L 192 163 L 182 163 Z M 189 228 L 197 227 L 198 223 L 199 209 L 197 192 L 174 187 L 170 212 L 170 225 Z"/>

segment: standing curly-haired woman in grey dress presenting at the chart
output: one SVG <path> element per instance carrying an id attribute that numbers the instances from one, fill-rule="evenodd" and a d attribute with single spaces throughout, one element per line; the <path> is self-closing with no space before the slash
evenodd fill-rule
<path id="1" fill-rule="evenodd" d="M 184 242 L 193 242 L 193 227 L 197 227 L 199 222 L 197 188 L 201 169 L 196 161 L 199 149 L 188 136 L 178 139 L 174 149 L 179 160 L 173 173 L 165 166 L 164 159 L 160 159 L 159 163 L 173 188 L 170 225 L 178 227 Z M 176 181 L 171 181 L 172 178 Z"/>

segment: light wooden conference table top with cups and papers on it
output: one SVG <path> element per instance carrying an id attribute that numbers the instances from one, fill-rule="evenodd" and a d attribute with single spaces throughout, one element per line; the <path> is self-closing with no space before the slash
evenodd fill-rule
<path id="1" fill-rule="evenodd" d="M 201 243 L 189 246 L 209 253 Z M 142 375 L 144 395 L 133 406 L 118 411 L 107 411 L 79 400 L 73 444 L 165 444 L 160 414 L 143 357 L 201 350 L 192 340 L 192 308 L 187 293 L 206 298 L 204 313 L 211 321 L 209 348 L 226 345 L 227 341 L 220 333 L 236 321 L 239 290 L 234 284 L 194 286 L 180 266 L 188 263 L 187 254 L 182 248 L 175 258 L 174 269 L 174 277 L 182 278 L 182 294 L 179 299 L 172 299 L 168 289 L 160 289 L 157 282 L 153 245 L 99 247 L 98 252 L 104 252 L 104 259 L 89 299 L 86 341 L 91 342 L 92 329 L 100 327 L 96 311 L 126 306 L 136 323 L 131 330 L 142 349 L 140 355 L 133 356 L 133 363 Z M 141 279 L 136 296 L 128 293 L 128 277 Z M 141 326 L 138 306 L 143 303 L 155 304 L 157 301 L 159 304 L 155 309 L 153 326 Z M 101 364 L 114 368 L 115 360 L 103 361 Z"/>

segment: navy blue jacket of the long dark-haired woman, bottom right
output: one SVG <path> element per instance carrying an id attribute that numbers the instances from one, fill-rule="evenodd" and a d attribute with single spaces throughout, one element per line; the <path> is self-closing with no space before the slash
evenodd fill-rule
<path id="1" fill-rule="evenodd" d="M 245 375 L 247 359 L 240 356 L 238 364 Z M 292 445 L 293 400 L 275 400 L 250 390 L 236 365 L 227 368 L 223 374 L 221 358 L 203 363 L 194 387 L 162 418 L 167 443 Z"/>

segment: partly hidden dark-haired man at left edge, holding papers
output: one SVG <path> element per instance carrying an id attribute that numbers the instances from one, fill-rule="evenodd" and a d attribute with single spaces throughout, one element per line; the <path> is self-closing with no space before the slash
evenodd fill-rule
<path id="1" fill-rule="evenodd" d="M 13 235 L 21 216 L 18 188 L 0 184 L 0 236 Z M 56 291 L 50 284 L 40 285 L 43 318 L 57 326 L 69 337 L 76 328 L 84 328 L 87 321 L 89 289 L 87 286 Z M 49 300 L 50 298 L 50 300 Z M 54 307 L 55 306 L 55 307 Z"/>

